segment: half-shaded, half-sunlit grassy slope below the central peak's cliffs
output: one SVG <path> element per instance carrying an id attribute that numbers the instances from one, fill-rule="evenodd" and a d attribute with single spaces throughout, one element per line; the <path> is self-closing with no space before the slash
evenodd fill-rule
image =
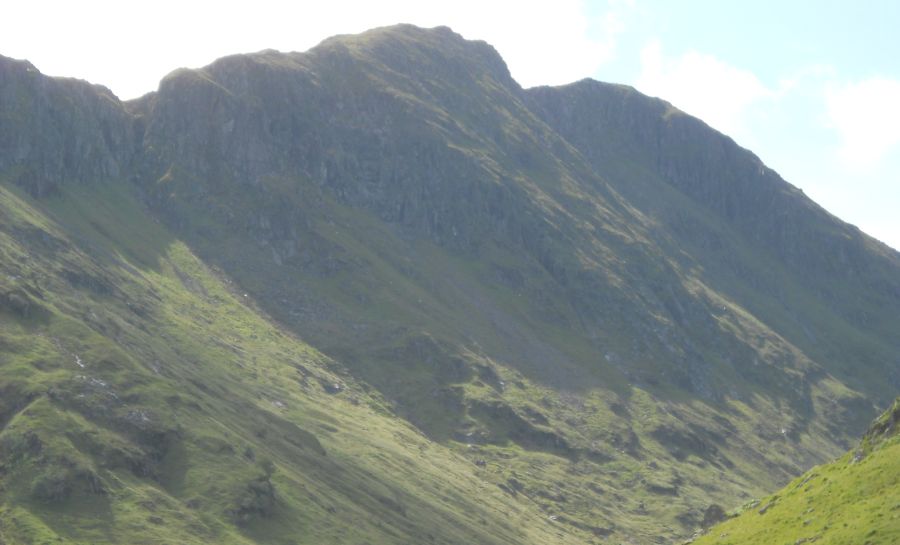
<path id="1" fill-rule="evenodd" d="M 781 434 L 779 427 L 791 428 L 794 421 L 785 418 L 782 405 L 764 396 L 715 407 L 730 418 L 723 425 L 707 403 L 677 392 L 662 400 L 658 392 L 629 386 L 604 367 L 592 375 L 575 374 L 584 384 L 573 388 L 565 374 L 578 369 L 567 370 L 565 362 L 590 361 L 598 357 L 596 351 L 570 332 L 549 327 L 537 317 L 533 303 L 509 287 L 482 283 L 494 274 L 494 260 L 528 270 L 521 257 L 499 251 L 487 262 L 448 256 L 428 243 L 404 243 L 371 216 L 334 201 L 313 199 L 313 210 L 304 204 L 305 195 L 296 201 L 285 198 L 308 217 L 331 218 L 314 222 L 309 236 L 333 243 L 331 251 L 338 256 L 352 256 L 350 266 L 329 275 L 278 266 L 268 248 L 239 235 L 212 236 L 197 244 L 298 331 L 337 322 L 315 332 L 317 346 L 353 361 L 354 372 L 430 436 L 472 462 L 485 461 L 480 473 L 487 482 L 506 490 L 513 490 L 511 483 L 521 485 L 510 495 L 531 498 L 544 516 L 561 517 L 601 535 L 611 531 L 642 541 L 659 535 L 674 539 L 692 527 L 709 503 L 759 495 L 797 471 L 797 450 L 833 449 L 821 428 L 796 437 Z M 192 220 L 206 221 L 202 214 Z M 407 255 L 415 258 L 404 259 Z M 397 261 L 408 265 L 398 270 Z M 285 274 L 290 274 L 290 284 L 283 282 Z M 702 285 L 696 289 L 709 291 Z M 320 324 L 310 324 L 302 313 L 308 303 L 297 305 L 297 311 L 286 303 L 308 301 L 310 293 L 329 303 L 328 311 L 313 315 L 321 317 Z M 341 323 L 335 313 L 352 316 L 353 322 Z M 495 329 L 504 320 L 516 324 L 508 336 Z M 778 339 L 740 312 L 723 317 L 723 322 L 729 320 L 758 335 L 761 350 L 783 350 Z M 326 336 L 330 338 L 322 340 Z M 477 343 L 461 349 L 446 341 L 460 337 Z M 546 352 L 560 362 L 552 371 L 557 384 L 567 386 L 548 385 L 546 374 L 492 356 L 520 342 L 535 350 L 548 343 L 552 349 Z M 852 395 L 829 377 L 816 380 L 811 389 L 823 415 L 833 410 L 829 393 Z M 495 407 L 512 410 L 491 412 Z M 722 435 L 710 438 L 707 429 L 722 430 Z M 571 453 L 555 448 L 556 438 Z M 765 458 L 756 454 L 764 451 Z"/>

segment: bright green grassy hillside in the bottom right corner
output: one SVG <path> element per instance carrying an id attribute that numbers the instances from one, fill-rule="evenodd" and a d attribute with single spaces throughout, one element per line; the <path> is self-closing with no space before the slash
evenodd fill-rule
<path id="1" fill-rule="evenodd" d="M 858 447 L 747 504 L 695 543 L 897 543 L 898 457 L 900 399 L 869 427 Z"/>

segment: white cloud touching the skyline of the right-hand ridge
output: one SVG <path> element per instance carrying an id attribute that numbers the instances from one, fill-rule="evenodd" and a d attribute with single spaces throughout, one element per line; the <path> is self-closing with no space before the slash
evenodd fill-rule
<path id="1" fill-rule="evenodd" d="M 641 52 L 641 75 L 635 86 L 731 136 L 743 132 L 751 106 L 777 96 L 752 72 L 712 55 L 690 51 L 666 58 L 659 41 L 650 42 Z"/>

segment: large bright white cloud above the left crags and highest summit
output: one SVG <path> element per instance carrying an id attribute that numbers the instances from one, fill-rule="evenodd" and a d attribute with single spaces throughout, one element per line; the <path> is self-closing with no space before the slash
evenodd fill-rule
<path id="1" fill-rule="evenodd" d="M 593 74 L 614 56 L 631 0 L 604 6 L 595 33 L 580 0 L 333 0 L 315 8 L 277 0 L 157 0 L 140 9 L 111 0 L 32 0 L 4 8 L 0 54 L 131 98 L 180 66 L 266 48 L 304 51 L 334 34 L 404 22 L 448 25 L 491 43 L 522 85 L 558 84 Z"/>

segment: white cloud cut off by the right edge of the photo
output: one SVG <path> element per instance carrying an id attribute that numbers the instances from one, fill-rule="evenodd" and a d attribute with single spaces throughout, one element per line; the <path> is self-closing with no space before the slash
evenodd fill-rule
<path id="1" fill-rule="evenodd" d="M 847 163 L 871 167 L 900 145 L 900 81 L 871 78 L 832 87 L 825 102 Z"/>

